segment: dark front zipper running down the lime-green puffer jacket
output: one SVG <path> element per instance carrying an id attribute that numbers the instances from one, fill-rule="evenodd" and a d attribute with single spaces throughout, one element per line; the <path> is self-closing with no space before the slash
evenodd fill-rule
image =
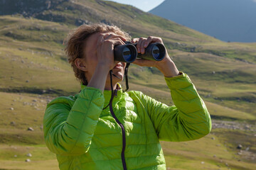
<path id="1" fill-rule="evenodd" d="M 110 99 L 110 113 L 112 114 L 114 120 L 117 121 L 118 125 L 121 127 L 122 129 L 122 142 L 123 142 L 123 145 L 122 145 L 122 153 L 121 153 L 121 157 L 122 157 L 122 164 L 123 164 L 123 168 L 124 170 L 127 170 L 127 166 L 126 166 L 126 163 L 125 163 L 125 159 L 124 159 L 124 149 L 125 149 L 125 131 L 124 131 L 124 125 L 122 125 L 122 123 L 119 122 L 119 120 L 117 119 L 117 117 L 114 115 L 114 111 L 113 111 L 113 107 L 112 107 L 112 101 L 113 101 L 113 98 L 114 96 L 117 97 L 117 89 L 114 90 L 114 95 L 112 96 L 112 98 Z"/>

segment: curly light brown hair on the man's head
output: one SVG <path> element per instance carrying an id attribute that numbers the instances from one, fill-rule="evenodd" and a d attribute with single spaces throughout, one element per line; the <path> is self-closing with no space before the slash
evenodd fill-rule
<path id="1" fill-rule="evenodd" d="M 90 35 L 105 31 L 122 35 L 124 38 L 127 38 L 127 40 L 131 40 L 131 36 L 128 33 L 117 26 L 109 26 L 105 23 L 92 23 L 79 26 L 78 28 L 71 30 L 68 37 L 64 40 L 65 54 L 68 56 L 68 62 L 71 64 L 71 67 L 73 67 L 76 79 L 82 84 L 87 85 L 88 82 L 85 77 L 85 72 L 75 66 L 75 59 L 83 58 L 85 56 L 83 47 L 86 47 L 85 41 Z"/>

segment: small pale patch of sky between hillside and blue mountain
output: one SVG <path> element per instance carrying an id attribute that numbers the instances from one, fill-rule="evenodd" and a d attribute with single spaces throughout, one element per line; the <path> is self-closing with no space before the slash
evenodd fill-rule
<path id="1" fill-rule="evenodd" d="M 156 6 L 159 6 L 164 0 L 107 0 L 107 1 L 115 1 L 120 4 L 128 4 L 139 8 L 142 11 L 148 12 Z M 255 0 L 256 1 L 256 0 Z"/>

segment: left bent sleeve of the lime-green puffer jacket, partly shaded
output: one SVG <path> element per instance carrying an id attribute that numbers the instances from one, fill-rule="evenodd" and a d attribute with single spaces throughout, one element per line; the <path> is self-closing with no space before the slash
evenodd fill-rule
<path id="1" fill-rule="evenodd" d="M 44 138 L 50 151 L 63 155 L 87 152 L 104 100 L 100 89 L 85 87 L 73 106 L 64 96 L 50 101 L 43 118 Z"/>

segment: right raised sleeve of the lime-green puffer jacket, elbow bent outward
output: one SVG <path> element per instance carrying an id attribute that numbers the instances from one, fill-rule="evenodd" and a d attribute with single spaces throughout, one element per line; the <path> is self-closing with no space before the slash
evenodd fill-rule
<path id="1" fill-rule="evenodd" d="M 174 106 L 142 94 L 142 102 L 159 140 L 181 142 L 201 138 L 211 130 L 210 114 L 188 75 L 165 77 Z"/>

